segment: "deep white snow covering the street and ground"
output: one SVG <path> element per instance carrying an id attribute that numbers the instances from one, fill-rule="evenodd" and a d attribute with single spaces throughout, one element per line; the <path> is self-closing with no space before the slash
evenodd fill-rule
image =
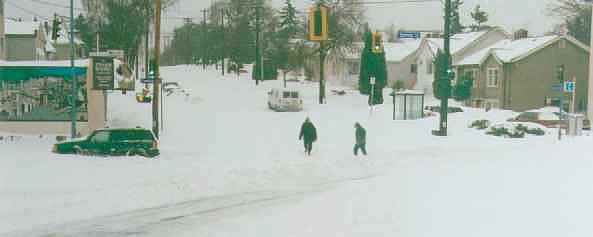
<path id="1" fill-rule="evenodd" d="M 318 105 L 316 84 L 290 83 L 305 111 L 276 113 L 266 92 L 281 82 L 188 66 L 163 77 L 191 92 L 165 98 L 159 159 L 0 142 L 0 236 L 593 234 L 592 137 L 491 137 L 468 125 L 514 113 L 469 108 L 434 137 L 438 117 L 392 121 L 390 101 L 370 116 L 353 91 Z M 110 95 L 111 127 L 150 127 L 150 105 L 133 96 Z M 319 133 L 310 158 L 298 141 L 307 116 Z M 352 155 L 357 121 L 368 157 Z"/>

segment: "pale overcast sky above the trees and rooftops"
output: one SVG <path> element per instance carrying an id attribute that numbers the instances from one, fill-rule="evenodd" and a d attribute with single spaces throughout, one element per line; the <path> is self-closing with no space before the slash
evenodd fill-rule
<path id="1" fill-rule="evenodd" d="M 50 18 L 54 12 L 68 15 L 69 0 L 5 0 L 5 14 L 8 17 L 32 19 L 33 15 Z M 214 0 L 178 0 L 163 15 L 165 32 L 171 32 L 175 26 L 182 24 L 179 17 L 193 17 L 201 20 L 200 10 L 208 7 Z M 269 0 L 276 7 L 281 7 L 284 0 Z M 371 0 L 361 0 L 371 1 Z M 375 0 L 372 0 L 375 1 Z M 394 0 L 398 1 L 398 0 Z M 558 19 L 547 16 L 547 6 L 557 0 L 465 0 L 462 9 L 462 23 L 469 25 L 469 13 L 480 4 L 489 13 L 490 25 L 503 26 L 512 32 L 525 28 L 533 34 L 542 34 L 550 30 Z M 45 2 L 39 3 L 39 2 Z M 75 2 L 78 2 L 76 0 Z M 304 9 L 311 0 L 293 0 L 297 8 Z M 375 1 L 376 2 L 376 1 Z M 51 3 L 53 5 L 47 4 Z M 77 4 L 77 3 L 75 3 Z M 382 29 L 393 23 L 397 28 L 433 30 L 442 29 L 442 6 L 440 2 L 397 3 L 367 5 L 367 16 L 374 28 Z M 77 10 L 79 12 L 79 10 Z"/>

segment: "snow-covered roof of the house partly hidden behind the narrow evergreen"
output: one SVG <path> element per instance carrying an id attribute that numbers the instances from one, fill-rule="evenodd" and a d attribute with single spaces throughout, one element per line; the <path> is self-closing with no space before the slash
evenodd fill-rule
<path id="1" fill-rule="evenodd" d="M 385 50 L 385 60 L 387 62 L 401 62 L 406 57 L 414 54 L 422 43 L 419 39 L 405 39 L 396 42 L 385 42 L 383 47 Z M 353 47 L 347 50 L 346 59 L 360 59 L 364 43 L 357 42 L 353 44 Z"/>

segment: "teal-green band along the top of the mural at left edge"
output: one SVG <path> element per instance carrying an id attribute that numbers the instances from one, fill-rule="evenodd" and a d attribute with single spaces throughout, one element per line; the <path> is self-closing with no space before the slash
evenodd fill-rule
<path id="1" fill-rule="evenodd" d="M 80 77 L 86 75 L 86 67 L 75 67 L 74 72 L 70 67 L 1 67 L 0 66 L 0 81 L 24 81 L 43 77 L 58 77 L 70 80 L 72 73 L 74 76 Z"/>

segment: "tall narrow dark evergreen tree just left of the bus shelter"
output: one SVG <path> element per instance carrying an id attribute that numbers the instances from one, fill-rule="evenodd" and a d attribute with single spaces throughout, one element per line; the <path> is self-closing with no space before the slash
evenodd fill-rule
<path id="1" fill-rule="evenodd" d="M 370 95 L 373 91 L 374 96 L 373 98 L 369 97 L 369 104 L 382 104 L 383 89 L 387 85 L 387 65 L 385 52 L 374 53 L 372 51 L 372 37 L 371 32 L 366 33 L 365 47 L 360 59 L 358 89 L 363 95 Z M 374 86 L 370 84 L 371 77 L 375 78 Z"/>

